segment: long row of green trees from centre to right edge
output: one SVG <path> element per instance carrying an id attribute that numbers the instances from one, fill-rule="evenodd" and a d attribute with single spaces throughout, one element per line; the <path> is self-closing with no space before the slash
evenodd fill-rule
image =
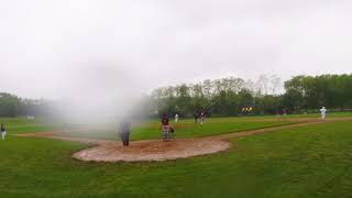
<path id="1" fill-rule="evenodd" d="M 276 76 L 257 81 L 241 78 L 205 80 L 155 89 L 151 111 L 190 117 L 199 111 L 212 116 L 304 113 L 326 106 L 352 108 L 352 75 L 296 76 L 284 82 Z"/>

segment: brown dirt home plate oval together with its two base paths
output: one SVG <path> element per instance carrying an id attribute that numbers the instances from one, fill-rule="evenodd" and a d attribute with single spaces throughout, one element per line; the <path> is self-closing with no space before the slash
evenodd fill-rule
<path id="1" fill-rule="evenodd" d="M 142 162 L 142 161 L 167 161 L 176 158 L 187 158 L 199 155 L 208 155 L 226 151 L 231 147 L 229 139 L 249 136 L 254 134 L 274 132 L 283 129 L 290 129 L 304 125 L 334 122 L 340 120 L 352 120 L 352 118 L 334 118 L 328 120 L 319 119 L 295 119 L 300 123 L 265 128 L 260 130 L 227 133 L 221 135 L 196 138 L 196 139 L 172 139 L 168 142 L 161 140 L 134 141 L 130 146 L 122 146 L 120 141 L 85 139 L 66 136 L 59 132 L 41 132 L 20 134 L 19 136 L 33 136 L 56 139 L 63 141 L 74 141 L 95 146 L 77 152 L 74 158 L 94 162 Z"/>

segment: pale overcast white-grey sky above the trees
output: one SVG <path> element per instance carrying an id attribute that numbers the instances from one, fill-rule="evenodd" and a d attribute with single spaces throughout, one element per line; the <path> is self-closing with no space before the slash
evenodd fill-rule
<path id="1" fill-rule="evenodd" d="M 349 0 L 0 0 L 0 91 L 106 98 L 352 73 Z"/>

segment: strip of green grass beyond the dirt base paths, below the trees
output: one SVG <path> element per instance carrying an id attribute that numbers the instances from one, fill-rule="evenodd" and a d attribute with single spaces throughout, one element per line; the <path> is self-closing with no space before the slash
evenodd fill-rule
<path id="1" fill-rule="evenodd" d="M 299 119 L 299 118 L 319 118 L 316 114 L 288 114 L 288 119 Z M 342 118 L 352 117 L 352 112 L 334 112 L 328 113 L 328 118 Z M 209 124 L 206 124 L 204 129 L 199 125 L 194 124 L 194 120 L 186 119 L 180 120 L 180 127 L 177 130 L 178 138 L 191 138 L 191 136 L 204 136 L 204 135 L 215 135 L 219 133 L 237 132 L 244 130 L 252 130 L 265 127 L 275 127 L 282 124 L 290 124 L 293 121 L 285 121 L 277 118 L 276 116 L 260 116 L 260 117 L 232 117 L 232 118 L 211 118 L 207 119 Z M 253 123 L 261 120 L 261 123 Z M 217 124 L 217 122 L 224 123 L 222 125 Z M 266 123 L 265 123 L 266 122 Z M 7 125 L 8 132 L 11 133 L 29 133 L 29 132 L 45 132 L 53 130 L 62 130 L 61 124 L 50 123 L 43 118 L 36 118 L 35 120 L 28 120 L 25 117 L 18 118 L 0 118 L 0 123 Z M 230 123 L 230 124 L 228 124 Z M 216 124 L 216 125 L 213 125 Z M 133 140 L 141 139 L 157 139 L 160 138 L 160 120 L 150 120 L 146 123 L 134 125 L 132 135 Z M 177 128 L 177 125 L 176 125 Z M 215 130 L 213 130 L 215 129 Z M 199 132 L 201 131 L 201 133 Z M 116 139 L 116 131 L 92 131 L 94 134 L 77 134 L 89 135 L 92 138 L 105 138 L 105 139 Z"/>

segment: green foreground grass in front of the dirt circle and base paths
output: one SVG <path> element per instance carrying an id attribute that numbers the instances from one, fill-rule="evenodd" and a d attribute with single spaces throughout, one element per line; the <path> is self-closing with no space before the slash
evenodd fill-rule
<path id="1" fill-rule="evenodd" d="M 1 197 L 349 197 L 352 122 L 232 140 L 210 156 L 164 163 L 85 163 L 87 145 L 9 136 L 0 142 Z"/>

